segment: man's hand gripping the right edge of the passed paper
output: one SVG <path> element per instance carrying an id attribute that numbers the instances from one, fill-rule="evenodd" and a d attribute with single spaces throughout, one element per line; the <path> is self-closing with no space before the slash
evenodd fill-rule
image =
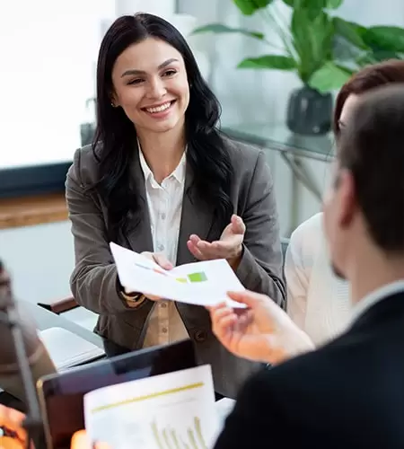
<path id="1" fill-rule="evenodd" d="M 312 340 L 268 296 L 245 291 L 229 293 L 247 309 L 220 304 L 209 309 L 213 332 L 234 355 L 278 364 L 312 350 Z"/>

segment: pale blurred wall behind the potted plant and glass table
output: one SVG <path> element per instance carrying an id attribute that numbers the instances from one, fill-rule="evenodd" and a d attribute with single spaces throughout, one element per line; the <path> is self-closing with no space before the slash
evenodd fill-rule
<path id="1" fill-rule="evenodd" d="M 285 19 L 289 9 L 277 0 L 279 12 Z M 203 2 L 179 0 L 181 13 L 198 17 L 201 24 L 224 22 L 233 27 L 264 31 L 268 40 L 280 45 L 277 36 L 265 26 L 259 16 L 243 17 L 233 0 L 204 0 Z M 390 24 L 404 26 L 404 2 L 402 0 L 345 0 L 338 15 L 366 26 Z M 205 50 L 211 62 L 210 82 L 223 105 L 222 121 L 225 124 L 251 122 L 253 120 L 277 123 L 285 120 L 285 108 L 290 92 L 300 86 L 294 74 L 280 71 L 258 71 L 236 69 L 243 57 L 272 53 L 261 42 L 236 34 L 204 35 Z M 229 49 L 231 48 L 231 51 Z M 272 172 L 276 180 L 277 203 L 281 229 L 289 227 L 291 173 L 277 156 L 271 156 Z M 319 187 L 325 188 L 329 180 L 328 164 L 309 162 L 308 169 Z M 321 203 L 304 188 L 300 188 L 299 221 L 312 216 L 321 208 Z"/>

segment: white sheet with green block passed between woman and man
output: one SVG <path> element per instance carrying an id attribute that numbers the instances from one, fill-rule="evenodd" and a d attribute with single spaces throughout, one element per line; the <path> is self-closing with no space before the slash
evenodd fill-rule
<path id="1" fill-rule="evenodd" d="M 130 291 L 188 304 L 206 306 L 225 301 L 243 307 L 227 296 L 228 291 L 242 291 L 244 286 L 226 260 L 206 260 L 165 270 L 116 243 L 110 243 L 110 250 L 119 281 Z"/>

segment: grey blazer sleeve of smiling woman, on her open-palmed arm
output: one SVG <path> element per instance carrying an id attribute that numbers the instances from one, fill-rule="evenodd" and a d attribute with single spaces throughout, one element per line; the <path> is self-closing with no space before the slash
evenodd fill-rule
<path id="1" fill-rule="evenodd" d="M 246 207 L 242 260 L 236 274 L 249 290 L 285 304 L 282 250 L 279 238 L 274 183 L 263 152 L 259 153 L 250 180 Z"/>

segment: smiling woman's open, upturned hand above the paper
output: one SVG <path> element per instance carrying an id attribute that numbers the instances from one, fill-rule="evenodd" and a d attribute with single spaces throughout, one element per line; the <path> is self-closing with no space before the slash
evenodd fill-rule
<path id="1" fill-rule="evenodd" d="M 206 242 L 196 234 L 189 236 L 189 251 L 198 260 L 226 259 L 236 269 L 242 258 L 242 242 L 245 225 L 242 217 L 233 215 L 229 225 L 224 228 L 220 240 Z"/>

